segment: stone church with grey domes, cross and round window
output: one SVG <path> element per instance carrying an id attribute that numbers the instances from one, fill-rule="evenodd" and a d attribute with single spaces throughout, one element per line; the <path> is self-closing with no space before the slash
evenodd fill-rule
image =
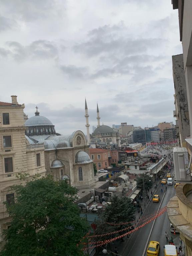
<path id="1" fill-rule="evenodd" d="M 38 111 L 25 122 L 25 126 L 31 144 L 43 143 L 45 168 L 56 181 L 67 179 L 71 186 L 77 188 L 94 185 L 93 161 L 89 157 L 89 146 L 83 132 L 58 134 L 52 122 L 40 116 Z"/>

